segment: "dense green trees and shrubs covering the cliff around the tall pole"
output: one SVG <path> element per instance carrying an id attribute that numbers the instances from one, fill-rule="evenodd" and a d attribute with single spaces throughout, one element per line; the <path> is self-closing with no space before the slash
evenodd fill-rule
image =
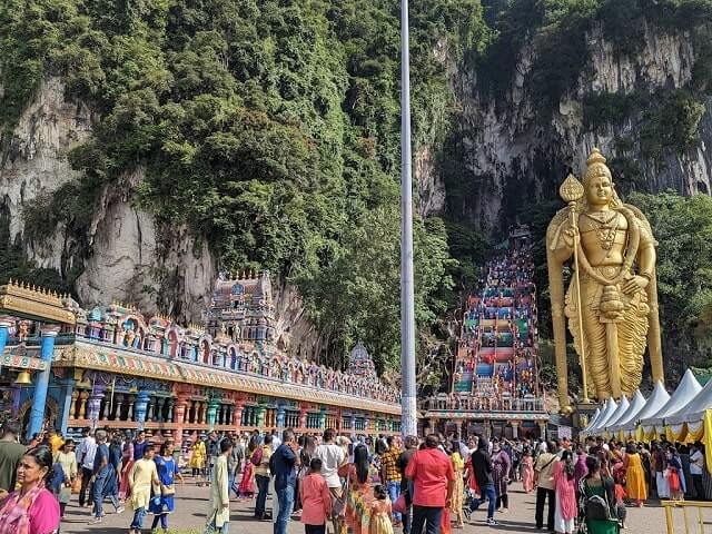
<path id="1" fill-rule="evenodd" d="M 387 0 L 3 2 L 3 140 L 49 76 L 97 117 L 92 138 L 70 154 L 81 180 L 26 210 L 29 237 L 57 222 L 81 235 L 102 189 L 122 188 L 165 228 L 187 222 L 209 239 L 226 268 L 270 268 L 296 283 L 330 354 L 360 338 L 379 367 L 396 367 L 398 9 Z M 416 0 L 411 17 L 414 141 L 437 151 L 453 105 L 447 68 L 481 49 L 487 28 L 477 0 Z M 126 179 L 136 170 L 137 186 Z M 427 336 L 452 299 L 442 221 L 416 221 L 416 249 Z"/>

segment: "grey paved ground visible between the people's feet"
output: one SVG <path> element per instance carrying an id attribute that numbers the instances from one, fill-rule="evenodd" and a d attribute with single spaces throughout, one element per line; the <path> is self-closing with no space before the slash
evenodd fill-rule
<path id="1" fill-rule="evenodd" d="M 201 534 L 205 523 L 205 516 L 208 508 L 209 490 L 205 487 L 196 487 L 188 481 L 185 486 L 177 484 L 177 506 L 176 512 L 170 516 L 171 534 Z M 67 508 L 67 518 L 62 523 L 62 533 L 96 533 L 96 534 L 119 534 L 128 532 L 128 525 L 131 522 L 131 512 L 126 511 L 120 515 L 115 515 L 112 506 L 107 504 L 107 515 L 105 522 L 100 525 L 88 525 L 89 512 L 80 510 L 77 505 L 76 496 L 70 507 Z M 475 534 L 482 532 L 512 532 L 512 533 L 530 533 L 534 531 L 534 495 L 525 495 L 521 491 L 521 485 L 513 484 L 513 491 L 510 496 L 511 512 L 506 515 L 497 515 L 501 522 L 500 526 L 487 527 L 484 525 L 484 513 L 477 512 L 473 514 L 472 524 L 465 526 L 464 531 L 454 530 L 453 534 L 462 532 L 463 534 Z M 230 532 L 239 534 L 271 534 L 270 522 L 256 522 L 251 518 L 254 502 L 235 502 L 233 504 L 233 516 L 230 523 Z M 267 503 L 270 508 L 270 503 Z M 702 532 L 694 524 L 693 515 L 696 512 L 690 511 L 691 533 Z M 148 532 L 152 516 L 148 516 L 145 524 L 145 532 Z M 712 533 L 712 511 L 705 515 L 705 531 Z M 678 512 L 675 521 L 675 533 L 684 533 L 682 512 Z M 665 516 L 663 508 L 656 503 L 651 503 L 644 508 L 629 508 L 629 533 L 644 534 L 665 534 Z M 303 534 L 304 527 L 297 523 L 289 524 L 289 534 Z M 399 534 L 400 531 L 396 531 Z"/>

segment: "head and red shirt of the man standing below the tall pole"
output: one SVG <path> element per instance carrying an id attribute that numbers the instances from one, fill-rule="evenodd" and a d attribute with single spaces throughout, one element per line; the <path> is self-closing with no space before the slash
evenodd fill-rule
<path id="1" fill-rule="evenodd" d="M 425 438 L 425 448 L 417 451 L 405 469 L 413 481 L 413 505 L 444 508 L 453 494 L 455 472 L 453 463 L 439 448 L 439 438 L 431 434 Z"/>

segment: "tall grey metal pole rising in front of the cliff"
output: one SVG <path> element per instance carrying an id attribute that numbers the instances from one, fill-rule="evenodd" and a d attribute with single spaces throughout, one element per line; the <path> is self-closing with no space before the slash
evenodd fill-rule
<path id="1" fill-rule="evenodd" d="M 400 372 L 403 387 L 400 432 L 404 436 L 417 435 L 408 41 L 408 0 L 400 0 Z"/>

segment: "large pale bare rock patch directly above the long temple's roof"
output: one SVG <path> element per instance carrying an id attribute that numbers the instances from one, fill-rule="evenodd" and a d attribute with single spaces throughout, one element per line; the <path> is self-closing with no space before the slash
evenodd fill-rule
<path id="1" fill-rule="evenodd" d="M 131 204 L 141 179 L 139 169 L 122 180 L 127 194 L 111 189 L 101 197 L 77 295 L 88 305 L 118 299 L 199 323 L 217 276 L 216 260 L 185 226 L 159 227 Z"/>

